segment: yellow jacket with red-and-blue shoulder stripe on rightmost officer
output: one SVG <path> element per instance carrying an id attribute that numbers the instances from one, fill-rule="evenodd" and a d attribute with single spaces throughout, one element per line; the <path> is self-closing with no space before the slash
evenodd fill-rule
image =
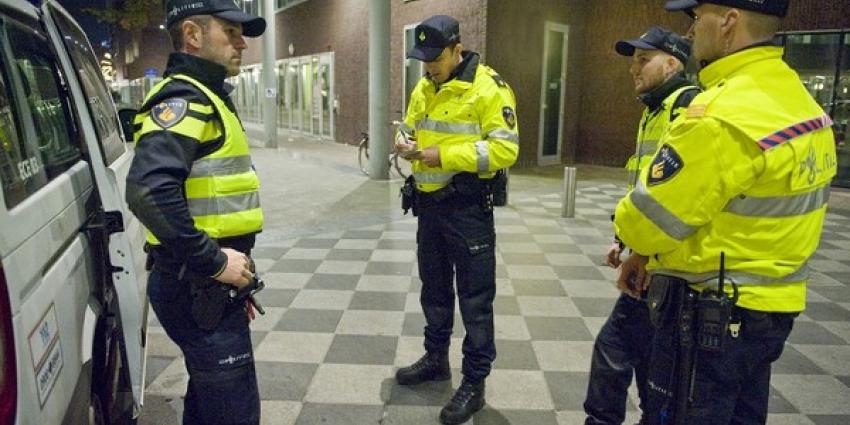
<path id="1" fill-rule="evenodd" d="M 706 91 L 617 206 L 617 234 L 650 273 L 697 290 L 716 288 L 725 252 L 739 306 L 802 311 L 836 173 L 831 121 L 779 47 L 721 58 L 700 80 Z"/>

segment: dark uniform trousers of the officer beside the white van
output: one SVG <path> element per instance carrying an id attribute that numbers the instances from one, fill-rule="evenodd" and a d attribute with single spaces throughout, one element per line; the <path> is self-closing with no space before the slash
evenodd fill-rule
<path id="1" fill-rule="evenodd" d="M 154 266 L 148 297 L 165 333 L 183 352 L 189 386 L 183 425 L 259 425 L 260 397 L 248 317 L 242 304 L 211 331 L 192 319 L 190 283 L 176 269 Z"/>

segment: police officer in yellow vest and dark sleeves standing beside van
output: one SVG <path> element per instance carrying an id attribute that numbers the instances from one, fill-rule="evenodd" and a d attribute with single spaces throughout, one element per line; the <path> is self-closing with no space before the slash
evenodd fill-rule
<path id="1" fill-rule="evenodd" d="M 183 423 L 259 424 L 250 312 L 216 294 L 227 292 L 222 284 L 249 283 L 248 255 L 263 225 L 224 79 L 239 74 L 243 36 L 261 35 L 266 23 L 230 0 L 169 0 L 166 13 L 176 52 L 134 121 L 127 177 L 127 201 L 148 229 L 148 296 L 185 356 Z"/>

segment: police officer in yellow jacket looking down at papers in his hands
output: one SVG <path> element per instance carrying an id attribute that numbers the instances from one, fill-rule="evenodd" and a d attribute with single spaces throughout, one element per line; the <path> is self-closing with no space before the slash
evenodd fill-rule
<path id="1" fill-rule="evenodd" d="M 412 385 L 451 377 L 456 278 L 466 328 L 463 381 L 440 420 L 459 424 L 484 406 L 484 379 L 496 357 L 496 235 L 487 188 L 517 158 L 516 100 L 477 53 L 463 50 L 454 18 L 428 18 L 414 37 L 408 57 L 424 62 L 428 74 L 414 88 L 401 126 L 415 141 L 401 140 L 396 149 L 413 159 L 426 353 L 398 370 L 396 380 Z"/>

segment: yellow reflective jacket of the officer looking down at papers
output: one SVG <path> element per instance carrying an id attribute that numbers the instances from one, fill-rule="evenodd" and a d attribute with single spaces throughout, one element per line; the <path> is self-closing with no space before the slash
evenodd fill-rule
<path id="1" fill-rule="evenodd" d="M 458 75 L 437 86 L 422 78 L 410 96 L 401 130 L 419 149 L 438 146 L 440 167 L 413 161 L 417 188 L 433 192 L 459 172 L 491 178 L 516 162 L 519 126 L 513 91 L 495 71 L 465 53 Z"/>

